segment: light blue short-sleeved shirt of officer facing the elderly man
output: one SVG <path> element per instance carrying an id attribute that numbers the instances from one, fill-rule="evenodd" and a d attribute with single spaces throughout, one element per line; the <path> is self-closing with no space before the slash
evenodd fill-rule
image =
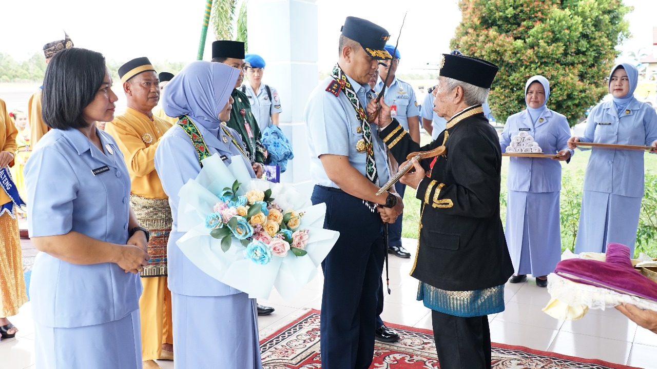
<path id="1" fill-rule="evenodd" d="M 361 123 L 353 105 L 342 91 L 337 97 L 326 91 L 332 80 L 332 77 L 328 77 L 315 87 L 308 98 L 304 119 L 307 126 L 310 154 L 310 176 L 313 182 L 321 186 L 339 188 L 328 179 L 319 156 L 323 154 L 348 156 L 351 166 L 365 175 L 367 154 L 356 150 L 356 143 L 363 139 L 363 133 L 359 132 Z M 370 92 L 369 85 L 361 86 L 350 77 L 348 80 L 363 108 L 366 109 L 367 102 L 376 96 Z M 366 97 L 366 93 L 369 93 L 370 96 Z M 371 124 L 370 127 L 372 128 L 374 160 L 378 171 L 378 185 L 382 186 L 390 179 L 386 152 L 383 141 L 376 133 L 376 125 Z"/>

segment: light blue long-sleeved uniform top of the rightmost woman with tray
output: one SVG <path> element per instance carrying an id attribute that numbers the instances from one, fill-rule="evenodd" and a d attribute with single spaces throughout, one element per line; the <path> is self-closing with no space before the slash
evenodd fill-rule
<path id="1" fill-rule="evenodd" d="M 633 98 L 622 117 L 613 101 L 602 102 L 589 114 L 581 142 L 650 146 L 657 140 L 657 114 L 652 106 Z M 633 198 L 643 197 L 643 151 L 602 150 L 591 152 L 584 190 Z"/>

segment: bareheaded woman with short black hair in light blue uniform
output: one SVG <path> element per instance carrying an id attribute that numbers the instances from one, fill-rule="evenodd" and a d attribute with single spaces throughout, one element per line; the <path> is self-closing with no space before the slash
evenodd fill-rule
<path id="1" fill-rule="evenodd" d="M 49 127 L 25 167 L 39 369 L 141 368 L 139 270 L 148 232 L 130 208 L 124 157 L 95 121 L 114 118 L 102 54 L 66 49 L 43 80 Z"/>

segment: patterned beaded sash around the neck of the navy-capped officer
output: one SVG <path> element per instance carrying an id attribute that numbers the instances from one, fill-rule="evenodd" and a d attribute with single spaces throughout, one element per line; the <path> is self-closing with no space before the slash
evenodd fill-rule
<path id="1" fill-rule="evenodd" d="M 327 91 L 336 95 L 340 95 L 340 90 L 344 92 L 344 95 L 351 102 L 351 106 L 356 112 L 356 119 L 361 123 L 361 130 L 363 131 L 363 140 L 365 141 L 365 153 L 367 157 L 365 158 L 365 177 L 369 179 L 374 185 L 378 186 L 378 172 L 376 171 L 376 162 L 374 160 L 374 147 L 372 144 L 372 129 L 370 127 L 369 121 L 367 120 L 367 112 L 361 105 L 361 101 L 358 99 L 351 83 L 347 79 L 347 76 L 342 72 L 342 68 L 338 64 L 335 64 L 333 67 L 333 72 L 331 77 L 334 79 L 327 87 Z M 338 85 L 336 85 L 336 83 Z M 375 211 L 376 204 L 363 200 L 363 204 L 369 207 L 371 211 Z"/>

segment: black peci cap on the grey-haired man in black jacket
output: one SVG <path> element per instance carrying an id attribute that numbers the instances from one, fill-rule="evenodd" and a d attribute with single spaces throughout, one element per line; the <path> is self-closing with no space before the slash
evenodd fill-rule
<path id="1" fill-rule="evenodd" d="M 483 59 L 472 56 L 442 54 L 438 63 L 439 76 L 470 83 L 484 89 L 491 88 L 499 68 Z"/>

